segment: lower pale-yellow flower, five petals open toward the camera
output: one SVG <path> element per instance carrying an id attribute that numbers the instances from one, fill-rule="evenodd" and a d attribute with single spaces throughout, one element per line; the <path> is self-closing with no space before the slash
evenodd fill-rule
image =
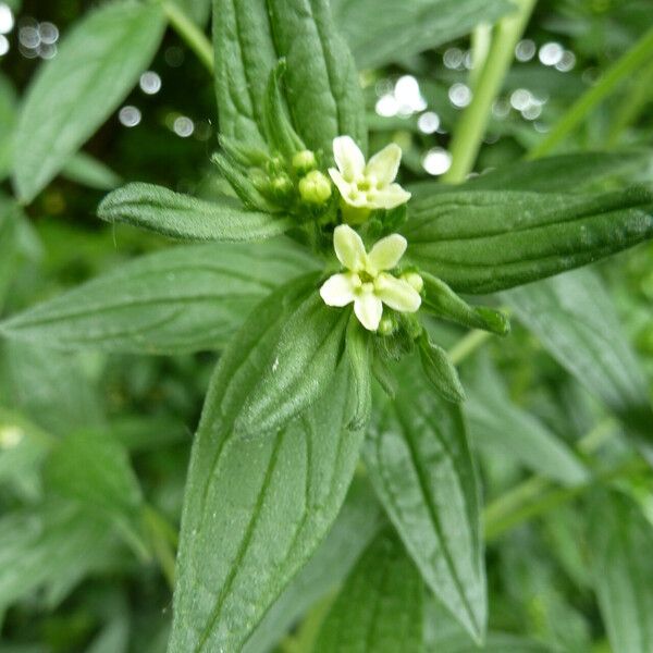
<path id="1" fill-rule="evenodd" d="M 333 274 L 320 288 L 320 295 L 329 306 L 347 306 L 354 303 L 354 312 L 369 331 L 377 331 L 383 304 L 402 312 L 415 312 L 421 297 L 404 279 L 386 271 L 399 262 L 406 251 L 406 238 L 391 234 L 379 241 L 368 254 L 360 236 L 348 225 L 341 224 L 333 232 L 333 247 L 346 272 Z M 419 276 L 411 273 L 412 276 Z M 411 282 L 417 280 L 411 279 Z M 419 278 L 421 282 L 421 278 Z"/>

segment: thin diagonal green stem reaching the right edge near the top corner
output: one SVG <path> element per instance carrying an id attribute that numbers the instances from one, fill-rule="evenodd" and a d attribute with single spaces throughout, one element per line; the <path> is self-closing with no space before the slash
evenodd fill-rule
<path id="1" fill-rule="evenodd" d="M 588 89 L 567 112 L 558 120 L 549 135 L 529 153 L 529 159 L 537 159 L 550 153 L 566 138 L 586 116 L 602 102 L 616 86 L 641 65 L 653 58 L 653 27 L 651 27 L 634 46 L 618 59 L 603 75 L 601 81 Z"/>

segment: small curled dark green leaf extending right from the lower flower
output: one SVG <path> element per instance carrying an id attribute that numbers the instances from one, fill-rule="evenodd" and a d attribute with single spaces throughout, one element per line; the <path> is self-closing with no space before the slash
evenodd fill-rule
<path id="1" fill-rule="evenodd" d="M 506 335 L 510 331 L 508 318 L 501 311 L 485 306 L 469 306 L 443 281 L 432 274 L 421 273 L 424 282 L 424 310 L 442 320 L 456 322 L 471 329 L 482 329 Z"/>

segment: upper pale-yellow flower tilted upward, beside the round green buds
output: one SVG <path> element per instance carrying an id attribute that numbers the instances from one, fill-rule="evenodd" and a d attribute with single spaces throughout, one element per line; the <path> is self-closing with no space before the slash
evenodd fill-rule
<path id="1" fill-rule="evenodd" d="M 337 165 L 329 169 L 343 200 L 357 209 L 394 209 L 410 199 L 410 193 L 393 184 L 402 160 L 402 148 L 392 143 L 367 163 L 350 136 L 333 139 Z"/>

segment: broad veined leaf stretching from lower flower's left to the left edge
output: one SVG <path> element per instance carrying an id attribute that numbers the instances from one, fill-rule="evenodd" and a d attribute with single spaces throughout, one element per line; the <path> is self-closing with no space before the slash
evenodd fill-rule
<path id="1" fill-rule="evenodd" d="M 289 241 L 171 247 L 12 317 L 0 333 L 64 349 L 221 348 L 266 295 L 315 264 Z"/>

